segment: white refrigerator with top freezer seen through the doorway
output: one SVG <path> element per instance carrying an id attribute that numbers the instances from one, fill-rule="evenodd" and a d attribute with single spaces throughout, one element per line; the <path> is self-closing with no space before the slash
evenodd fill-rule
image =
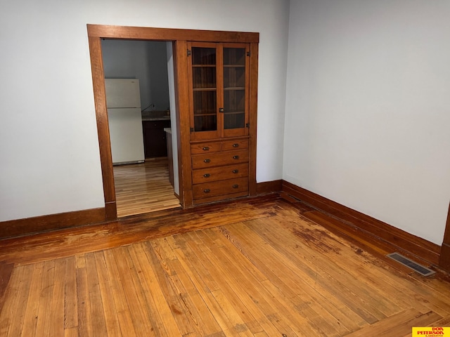
<path id="1" fill-rule="evenodd" d="M 113 164 L 142 163 L 139 79 L 105 79 L 105 89 Z"/>

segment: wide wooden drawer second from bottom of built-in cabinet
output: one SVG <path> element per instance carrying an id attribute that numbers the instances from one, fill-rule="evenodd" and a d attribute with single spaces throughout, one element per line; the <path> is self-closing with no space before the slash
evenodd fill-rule
<path id="1" fill-rule="evenodd" d="M 217 180 L 248 177 L 248 164 L 217 166 L 192 172 L 192 183 L 201 184 Z"/>

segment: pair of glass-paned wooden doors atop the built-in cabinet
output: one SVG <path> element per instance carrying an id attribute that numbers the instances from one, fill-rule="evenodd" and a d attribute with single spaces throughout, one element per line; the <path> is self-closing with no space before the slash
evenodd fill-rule
<path id="1" fill-rule="evenodd" d="M 188 47 L 191 138 L 248 135 L 248 45 L 192 42 Z"/>

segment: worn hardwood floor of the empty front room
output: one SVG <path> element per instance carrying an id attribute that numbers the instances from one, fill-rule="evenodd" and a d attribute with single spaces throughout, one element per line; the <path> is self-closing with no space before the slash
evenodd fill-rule
<path id="1" fill-rule="evenodd" d="M 449 326 L 448 275 L 422 277 L 319 214 L 271 195 L 1 240 L 0 336 L 403 337 Z"/>

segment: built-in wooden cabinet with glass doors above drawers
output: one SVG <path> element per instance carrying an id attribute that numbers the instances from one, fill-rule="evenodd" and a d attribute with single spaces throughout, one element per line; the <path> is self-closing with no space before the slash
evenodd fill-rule
<path id="1" fill-rule="evenodd" d="M 250 44 L 188 44 L 193 204 L 249 193 Z"/>

